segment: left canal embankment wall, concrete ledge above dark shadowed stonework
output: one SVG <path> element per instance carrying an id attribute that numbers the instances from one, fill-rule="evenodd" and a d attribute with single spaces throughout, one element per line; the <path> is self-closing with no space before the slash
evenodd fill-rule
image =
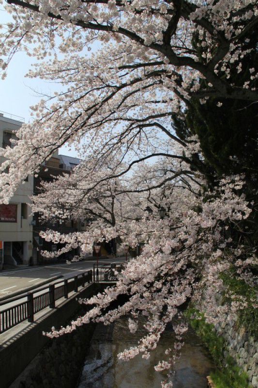
<path id="1" fill-rule="evenodd" d="M 40 364 L 44 367 L 45 363 L 46 368 L 40 370 L 39 365 L 36 366 L 32 372 L 34 377 L 30 378 L 30 385 L 24 382 L 20 388 L 72 387 L 68 383 L 76 378 L 75 364 L 78 361 L 77 358 L 81 359 L 85 355 L 86 346 L 84 346 L 83 341 L 87 345 L 87 341 L 91 339 L 92 326 L 84 326 L 78 332 L 75 331 L 77 333 L 74 332 L 67 335 L 67 338 L 63 336 L 56 340 L 48 339 L 42 335 L 42 332 L 50 331 L 52 326 L 59 328 L 67 323 L 71 317 L 74 317 L 76 311 L 81 307 L 76 300 L 78 297 L 87 298 L 102 290 L 103 285 L 90 284 L 79 294 L 71 296 L 59 307 L 49 310 L 44 317 L 31 323 L 25 330 L 18 332 L 7 343 L 3 343 L 0 346 L 0 387 L 10 387 L 44 346 L 46 346 L 46 350 L 43 352 L 45 356 L 43 355 Z M 33 383 L 32 378 L 34 379 Z M 62 378 L 62 383 L 60 378 Z"/>

